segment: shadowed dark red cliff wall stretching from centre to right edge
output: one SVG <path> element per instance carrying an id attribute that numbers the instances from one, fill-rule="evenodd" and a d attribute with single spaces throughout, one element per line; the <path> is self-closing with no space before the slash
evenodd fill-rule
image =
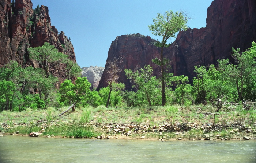
<path id="1" fill-rule="evenodd" d="M 174 75 L 186 75 L 192 81 L 196 75 L 193 72 L 195 65 L 217 65 L 218 59 L 231 59 L 232 47 L 244 51 L 256 41 L 255 0 L 214 0 L 208 7 L 206 21 L 204 28 L 180 31 L 170 47 L 164 49 L 164 57 L 172 61 Z M 139 34 L 122 35 L 110 45 L 107 62 L 124 57 L 124 62 L 118 67 L 123 70 L 120 82 L 125 83 L 128 90 L 131 85 L 125 79 L 124 68 L 134 70 L 136 66 L 141 68 L 146 64 L 154 67 L 151 59 L 158 57 L 160 50 L 153 41 Z M 106 69 L 98 90 L 108 85 Z M 159 75 L 156 67 L 154 75 Z"/>

